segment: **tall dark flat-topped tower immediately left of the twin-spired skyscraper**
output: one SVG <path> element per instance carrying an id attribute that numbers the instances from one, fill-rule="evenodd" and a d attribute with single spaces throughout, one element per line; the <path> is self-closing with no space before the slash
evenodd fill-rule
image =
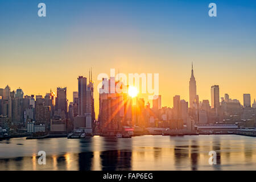
<path id="1" fill-rule="evenodd" d="M 87 91 L 87 78 L 79 76 L 79 115 L 86 113 L 86 91 Z"/>

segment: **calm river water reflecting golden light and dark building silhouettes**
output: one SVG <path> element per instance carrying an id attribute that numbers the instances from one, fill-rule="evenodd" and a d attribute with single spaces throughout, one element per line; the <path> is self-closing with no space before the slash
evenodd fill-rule
<path id="1" fill-rule="evenodd" d="M 217 152 L 209 165 L 208 152 Z M 47 154 L 38 164 L 38 151 Z M 239 135 L 0 141 L 0 170 L 255 170 L 256 140 Z"/>

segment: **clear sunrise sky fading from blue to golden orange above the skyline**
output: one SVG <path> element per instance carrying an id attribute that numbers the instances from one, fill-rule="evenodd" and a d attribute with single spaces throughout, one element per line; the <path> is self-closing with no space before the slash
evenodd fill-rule
<path id="1" fill-rule="evenodd" d="M 175 95 L 189 100 L 193 61 L 200 101 L 212 85 L 241 104 L 243 93 L 256 97 L 256 1 L 0 0 L 0 40 L 0 88 L 28 95 L 67 86 L 72 101 L 79 75 L 92 67 L 97 88 L 115 68 L 159 73 L 162 106 L 172 107 Z M 97 90 L 94 99 L 97 114 Z"/>

